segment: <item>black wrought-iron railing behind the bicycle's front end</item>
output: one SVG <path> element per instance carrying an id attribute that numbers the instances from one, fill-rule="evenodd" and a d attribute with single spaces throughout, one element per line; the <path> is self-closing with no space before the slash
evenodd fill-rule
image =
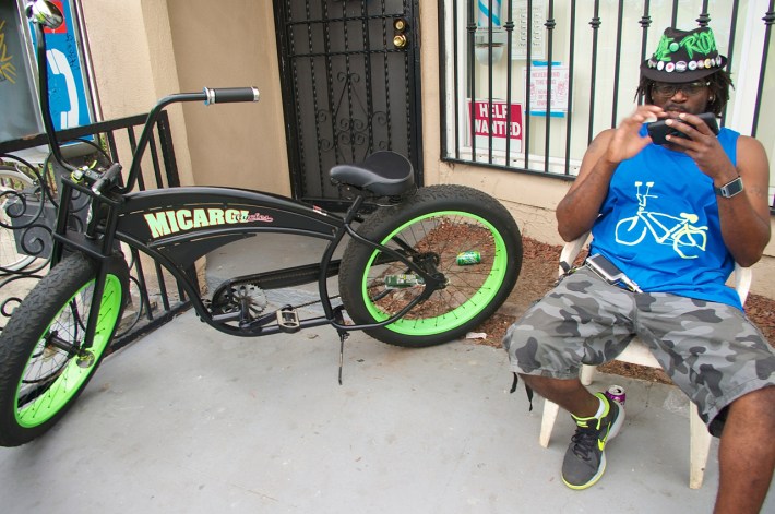
<path id="1" fill-rule="evenodd" d="M 144 115 L 94 123 L 58 132 L 70 142 L 63 151 L 74 163 L 94 159 L 129 163 L 136 147 Z M 57 176 L 61 169 L 45 157 L 32 162 L 32 148 L 45 147 L 47 138 L 0 143 L 0 326 L 49 267 L 51 227 L 57 208 Z M 40 155 L 46 155 L 45 153 Z M 162 113 L 141 167 L 138 190 L 180 186 L 169 119 Z M 85 199 L 75 196 L 70 224 L 79 229 L 88 215 Z M 120 348 L 171 320 L 189 307 L 182 289 L 158 263 L 124 248 L 130 265 L 130 296 L 111 344 Z"/>

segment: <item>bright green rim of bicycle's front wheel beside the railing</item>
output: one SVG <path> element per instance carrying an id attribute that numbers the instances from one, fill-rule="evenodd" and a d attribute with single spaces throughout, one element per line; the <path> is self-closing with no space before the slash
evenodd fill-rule
<path id="1" fill-rule="evenodd" d="M 70 300 L 62 307 L 57 314 L 57 319 L 61 315 L 64 309 L 69 308 L 73 298 L 83 292 L 84 289 L 91 287 L 94 280 L 85 284 Z M 53 416 L 57 415 L 63 407 L 70 403 L 92 373 L 94 366 L 99 362 L 99 358 L 110 342 L 110 335 L 116 324 L 118 312 L 121 307 L 121 283 L 115 275 L 108 275 L 105 282 L 105 290 L 99 306 L 99 315 L 97 316 L 97 327 L 92 345 L 92 354 L 94 360 L 91 366 L 81 368 L 76 358 L 71 358 L 64 368 L 59 373 L 59 376 L 49 385 L 44 394 L 35 398 L 33 402 L 16 409 L 16 421 L 25 428 L 38 427 Z M 46 327 L 48 332 L 50 325 Z M 33 348 L 33 352 L 37 350 L 37 345 Z M 29 361 L 33 360 L 31 355 Z M 28 361 L 28 362 L 29 362 Z M 25 369 L 26 371 L 26 369 Z M 19 392 L 22 389 L 22 379 L 16 389 L 15 405 L 19 405 Z"/>

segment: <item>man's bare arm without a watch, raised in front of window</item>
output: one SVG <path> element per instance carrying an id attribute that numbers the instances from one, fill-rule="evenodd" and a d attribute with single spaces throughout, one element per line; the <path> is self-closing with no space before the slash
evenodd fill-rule
<path id="1" fill-rule="evenodd" d="M 637 155 L 652 141 L 639 135 L 641 124 L 663 116 L 659 107 L 644 105 L 619 127 L 595 138 L 584 154 L 579 177 L 557 206 L 557 228 L 563 240 L 572 241 L 592 228 L 619 163 Z"/>

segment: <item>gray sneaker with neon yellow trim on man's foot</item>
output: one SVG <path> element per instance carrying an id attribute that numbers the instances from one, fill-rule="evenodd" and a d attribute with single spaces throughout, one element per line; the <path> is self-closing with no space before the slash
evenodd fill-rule
<path id="1" fill-rule="evenodd" d="M 562 462 L 562 481 L 571 489 L 586 489 L 600 479 L 606 470 L 606 444 L 619 433 L 624 422 L 624 407 L 603 393 L 595 396 L 605 402 L 603 416 L 576 418 L 571 415 L 579 427 Z"/>

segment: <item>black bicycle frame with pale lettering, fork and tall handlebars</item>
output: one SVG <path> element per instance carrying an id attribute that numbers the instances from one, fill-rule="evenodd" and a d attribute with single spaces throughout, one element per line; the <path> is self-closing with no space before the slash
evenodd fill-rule
<path id="1" fill-rule="evenodd" d="M 169 271 L 190 298 L 196 313 L 215 328 L 240 336 L 255 336 L 281 332 L 281 326 L 265 326 L 270 316 L 263 316 L 235 328 L 226 321 L 234 316 L 212 315 L 200 297 L 194 263 L 225 244 L 260 232 L 293 234 L 327 240 L 320 264 L 276 270 L 250 277 L 237 277 L 236 280 L 274 280 L 275 284 L 289 287 L 298 284 L 318 282 L 318 290 L 324 310 L 324 316 L 305 320 L 296 327 L 303 328 L 321 324 L 331 324 L 341 334 L 347 331 L 368 330 L 385 326 L 395 322 L 425 301 L 430 295 L 444 287 L 437 277 L 413 262 L 410 255 L 386 248 L 379 242 L 360 237 L 351 223 L 359 219 L 367 196 L 366 190 L 358 190 L 354 203 L 344 217 L 324 212 L 284 196 L 243 189 L 189 187 L 155 191 L 131 192 L 140 174 L 140 163 L 152 136 L 153 127 L 162 110 L 175 103 L 204 101 L 205 105 L 231 101 L 258 101 L 259 92 L 253 87 L 208 89 L 202 93 L 180 93 L 160 99 L 148 112 L 147 120 L 132 156 L 132 165 L 122 186 L 121 165 L 115 163 L 107 169 L 75 168 L 62 157 L 57 134 L 48 108 L 48 81 L 46 43 L 43 27 L 53 27 L 61 23 L 61 15 L 49 2 L 36 1 L 32 7 L 37 38 L 37 60 L 40 75 L 40 106 L 46 133 L 55 159 L 70 171 L 62 176 L 60 208 L 53 230 L 53 250 L 51 265 L 56 265 L 65 249 L 81 251 L 99 263 L 94 287 L 93 304 L 104 290 L 107 276 L 107 262 L 116 255 L 117 242 L 123 242 L 136 249 Z M 90 201 L 90 222 L 83 234 L 68 227 L 68 206 L 73 191 L 86 194 Z M 349 235 L 357 241 L 380 250 L 386 258 L 406 264 L 410 271 L 426 283 L 425 290 L 408 302 L 404 309 L 388 320 L 369 325 L 346 325 L 342 316 L 343 307 L 332 306 L 326 278 L 337 274 L 339 261 L 333 254 L 344 237 Z M 400 243 L 401 246 L 401 243 Z M 408 252 L 408 246 L 404 250 Z M 293 273 L 291 273 L 293 272 Z M 302 278 L 291 278 L 290 275 Z M 303 280 L 303 282 L 300 282 Z M 97 310 L 92 309 L 86 323 L 85 348 L 91 346 L 96 326 Z M 228 319 L 227 319 L 228 318 Z"/>

